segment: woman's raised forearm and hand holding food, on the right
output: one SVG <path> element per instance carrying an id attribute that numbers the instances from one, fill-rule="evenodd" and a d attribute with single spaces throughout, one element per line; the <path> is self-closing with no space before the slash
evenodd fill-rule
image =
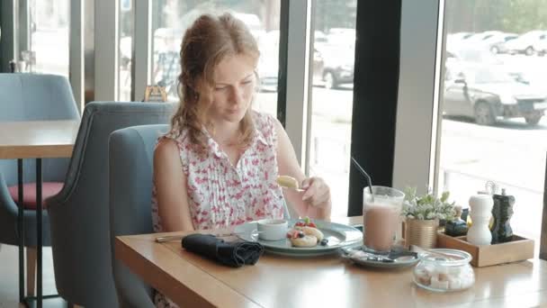
<path id="1" fill-rule="evenodd" d="M 300 166 L 291 140 L 282 124 L 275 120 L 275 131 L 277 131 L 277 165 L 279 175 L 291 176 L 298 180 L 301 188 L 306 189 L 299 193 L 291 189 L 285 189 L 283 194 L 293 206 L 296 213 L 311 218 L 323 220 L 330 219 L 331 201 L 330 189 L 320 177 L 306 178 Z"/>

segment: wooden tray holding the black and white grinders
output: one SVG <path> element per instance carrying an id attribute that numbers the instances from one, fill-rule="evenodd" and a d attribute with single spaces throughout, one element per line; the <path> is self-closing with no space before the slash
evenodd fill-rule
<path id="1" fill-rule="evenodd" d="M 476 246 L 466 241 L 465 236 L 452 237 L 439 232 L 437 248 L 460 249 L 471 254 L 473 267 L 516 262 L 534 258 L 534 240 L 513 235 L 513 240 L 494 245 Z"/>

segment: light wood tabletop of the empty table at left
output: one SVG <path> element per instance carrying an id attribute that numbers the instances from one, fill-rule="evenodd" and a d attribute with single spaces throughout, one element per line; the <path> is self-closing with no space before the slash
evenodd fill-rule
<path id="1" fill-rule="evenodd" d="M 0 159 L 68 158 L 79 121 L 0 122 Z"/>

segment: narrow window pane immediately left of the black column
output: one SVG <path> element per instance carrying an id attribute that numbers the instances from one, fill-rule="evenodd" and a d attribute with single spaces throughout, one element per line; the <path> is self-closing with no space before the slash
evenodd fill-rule
<path id="1" fill-rule="evenodd" d="M 333 216 L 346 216 L 357 2 L 318 0 L 313 10 L 309 174 L 331 188 Z"/>

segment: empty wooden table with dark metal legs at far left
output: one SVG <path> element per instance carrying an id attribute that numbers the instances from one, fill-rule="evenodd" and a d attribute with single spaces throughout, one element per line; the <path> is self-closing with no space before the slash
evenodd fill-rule
<path id="1" fill-rule="evenodd" d="M 36 159 L 37 306 L 42 305 L 41 159 L 69 158 L 76 140 L 79 121 L 0 122 L 0 159 L 17 159 L 19 204 L 22 204 L 22 159 Z M 19 297 L 24 302 L 23 208 L 19 206 Z M 49 296 L 45 296 L 49 297 Z"/>

